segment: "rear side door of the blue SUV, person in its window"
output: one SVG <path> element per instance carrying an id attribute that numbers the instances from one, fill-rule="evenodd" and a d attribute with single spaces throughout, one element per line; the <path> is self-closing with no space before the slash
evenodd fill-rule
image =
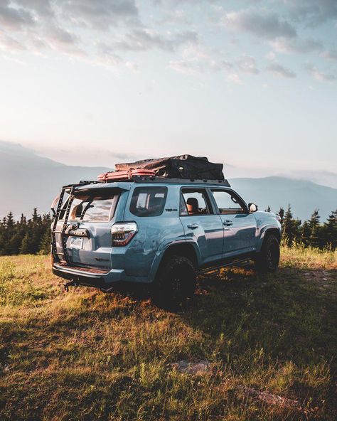
<path id="1" fill-rule="evenodd" d="M 182 188 L 180 219 L 186 240 L 198 243 L 201 265 L 223 257 L 223 222 L 206 188 Z"/>

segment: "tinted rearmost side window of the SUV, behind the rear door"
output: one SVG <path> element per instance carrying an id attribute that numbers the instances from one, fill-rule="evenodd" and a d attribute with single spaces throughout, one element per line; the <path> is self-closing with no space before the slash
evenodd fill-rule
<path id="1" fill-rule="evenodd" d="M 130 212 L 136 216 L 158 216 L 163 213 L 167 187 L 136 187 Z"/>

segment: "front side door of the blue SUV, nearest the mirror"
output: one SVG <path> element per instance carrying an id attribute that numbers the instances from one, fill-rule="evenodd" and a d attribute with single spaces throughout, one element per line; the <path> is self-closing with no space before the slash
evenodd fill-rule
<path id="1" fill-rule="evenodd" d="M 252 252 L 256 245 L 257 223 L 247 205 L 235 192 L 210 188 L 224 228 L 223 257 Z"/>

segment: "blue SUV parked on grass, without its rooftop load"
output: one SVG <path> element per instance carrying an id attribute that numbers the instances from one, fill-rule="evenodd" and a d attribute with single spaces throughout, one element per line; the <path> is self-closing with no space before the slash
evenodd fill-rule
<path id="1" fill-rule="evenodd" d="M 247 205 L 226 180 L 83 181 L 64 186 L 55 203 L 53 273 L 66 288 L 137 282 L 157 300 L 182 302 L 200 272 L 248 260 L 262 272 L 279 265 L 277 216 Z"/>

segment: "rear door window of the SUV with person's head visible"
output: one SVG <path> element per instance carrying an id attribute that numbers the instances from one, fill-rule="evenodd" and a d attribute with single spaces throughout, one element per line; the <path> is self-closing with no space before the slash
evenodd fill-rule
<path id="1" fill-rule="evenodd" d="M 181 193 L 181 216 L 213 214 L 205 188 L 183 188 Z"/>

